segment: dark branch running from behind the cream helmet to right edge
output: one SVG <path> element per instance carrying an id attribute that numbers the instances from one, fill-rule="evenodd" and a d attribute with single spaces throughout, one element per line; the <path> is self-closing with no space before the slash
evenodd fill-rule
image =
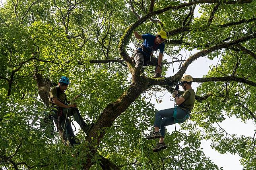
<path id="1" fill-rule="evenodd" d="M 255 82 L 244 79 L 242 77 L 236 77 L 236 76 L 193 78 L 193 81 L 197 83 L 203 83 L 203 82 L 209 82 L 209 81 L 237 81 L 237 82 L 245 83 L 245 84 L 256 87 Z"/>

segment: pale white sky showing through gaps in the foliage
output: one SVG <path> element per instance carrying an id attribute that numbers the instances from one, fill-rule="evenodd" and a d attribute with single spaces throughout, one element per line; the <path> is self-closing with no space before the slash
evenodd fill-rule
<path id="1" fill-rule="evenodd" d="M 4 3 L 6 0 L 0 0 L 0 2 Z M 0 6 L 2 4 L 0 3 Z M 198 6 L 195 9 L 195 17 L 200 17 L 200 13 L 198 13 Z M 193 51 L 194 54 L 196 51 Z M 187 52 L 189 54 L 189 52 Z M 183 53 L 185 55 L 185 53 Z M 167 56 L 164 56 L 167 57 Z M 201 57 L 188 67 L 186 74 L 192 75 L 192 77 L 200 78 L 205 75 L 209 70 L 209 65 L 216 65 L 218 59 L 215 60 L 208 60 L 206 57 Z M 175 69 L 176 70 L 176 69 Z M 176 71 L 175 71 L 176 73 Z M 166 77 L 172 76 L 173 70 L 172 67 L 169 68 L 167 71 Z M 193 89 L 196 91 L 196 87 L 198 87 L 200 83 L 192 83 Z M 155 108 L 157 110 L 162 110 L 166 108 L 171 108 L 174 106 L 174 103 L 170 101 L 169 97 L 171 94 L 165 94 L 163 97 L 163 102 L 157 103 L 155 100 L 151 100 L 153 104 L 155 104 Z M 225 121 L 220 123 L 220 126 L 227 131 L 229 134 L 237 134 L 237 135 L 245 135 L 251 136 L 254 135 L 255 125 L 252 121 L 247 121 L 246 123 L 242 123 L 240 119 L 235 117 L 227 118 Z M 77 128 L 78 129 L 78 128 Z M 176 129 L 179 130 L 179 124 L 176 125 Z M 175 126 L 167 126 L 167 131 L 171 133 L 171 131 L 175 130 Z M 227 154 L 220 154 L 214 149 L 210 148 L 210 141 L 202 141 L 201 147 L 206 156 L 209 158 L 220 168 L 223 167 L 223 170 L 242 170 L 242 166 L 240 165 L 238 155 L 231 155 L 230 153 Z"/>

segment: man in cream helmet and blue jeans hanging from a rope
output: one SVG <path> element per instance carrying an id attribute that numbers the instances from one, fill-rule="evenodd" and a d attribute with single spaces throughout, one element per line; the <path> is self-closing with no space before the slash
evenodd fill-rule
<path id="1" fill-rule="evenodd" d="M 167 148 L 167 145 L 163 142 L 165 126 L 175 123 L 183 123 L 189 117 L 189 114 L 194 107 L 196 97 L 195 92 L 191 87 L 192 82 L 193 79 L 191 75 L 183 75 L 178 85 L 182 86 L 184 93 L 181 96 L 178 95 L 178 88 L 175 88 L 175 102 L 177 106 L 175 108 L 160 110 L 155 114 L 155 129 L 146 137 L 147 139 L 160 138 L 159 143 L 153 149 L 153 152 L 158 152 Z"/>

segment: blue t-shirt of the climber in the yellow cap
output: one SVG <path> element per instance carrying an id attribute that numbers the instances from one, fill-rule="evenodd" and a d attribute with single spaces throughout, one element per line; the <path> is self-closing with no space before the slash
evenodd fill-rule
<path id="1" fill-rule="evenodd" d="M 155 35 L 144 34 L 142 35 L 142 38 L 144 39 L 144 42 L 142 45 L 145 46 L 145 48 L 147 48 L 147 51 L 151 53 L 153 51 L 160 49 L 160 52 L 163 54 L 165 50 L 165 43 L 155 44 L 155 39 L 156 39 Z M 143 52 L 141 47 L 137 49 L 140 50 L 145 56 L 147 57 L 150 56 L 149 52 Z"/>

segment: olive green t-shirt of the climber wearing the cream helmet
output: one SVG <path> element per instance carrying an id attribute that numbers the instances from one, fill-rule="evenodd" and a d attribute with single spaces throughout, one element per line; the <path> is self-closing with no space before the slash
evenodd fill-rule
<path id="1" fill-rule="evenodd" d="M 194 108 L 195 98 L 196 98 L 196 94 L 194 90 L 188 89 L 184 91 L 181 97 L 183 97 L 185 101 L 182 104 L 180 104 L 180 108 L 188 108 L 191 112 L 191 110 Z"/>

